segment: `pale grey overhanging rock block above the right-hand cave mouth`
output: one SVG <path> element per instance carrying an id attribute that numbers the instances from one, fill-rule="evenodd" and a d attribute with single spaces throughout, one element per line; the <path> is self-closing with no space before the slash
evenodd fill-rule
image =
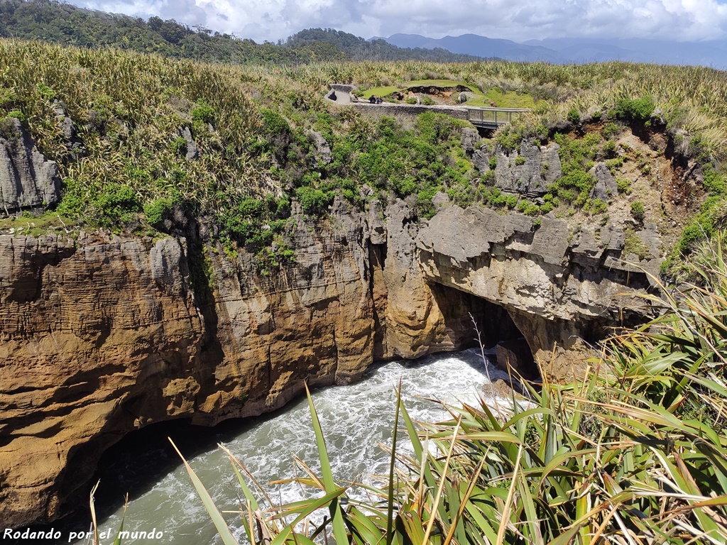
<path id="1" fill-rule="evenodd" d="M 573 233 L 565 219 L 541 222 L 448 206 L 419 230 L 418 261 L 428 283 L 505 307 L 541 369 L 557 381 L 582 368 L 584 342 L 641 315 L 643 301 L 634 296 L 651 285 L 642 268 L 622 260 L 638 257 L 622 255 L 620 231 L 587 226 Z M 658 235 L 652 235 L 653 248 Z M 640 267 L 658 274 L 656 255 L 654 249 Z"/>

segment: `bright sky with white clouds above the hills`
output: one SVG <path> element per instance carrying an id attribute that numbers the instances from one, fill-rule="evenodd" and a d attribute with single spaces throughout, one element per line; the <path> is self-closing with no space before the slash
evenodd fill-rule
<path id="1" fill-rule="evenodd" d="M 727 38 L 727 0 L 71 0 L 71 4 L 189 26 L 255 41 L 303 28 L 357 36 L 475 33 L 515 41 L 595 36 Z"/>

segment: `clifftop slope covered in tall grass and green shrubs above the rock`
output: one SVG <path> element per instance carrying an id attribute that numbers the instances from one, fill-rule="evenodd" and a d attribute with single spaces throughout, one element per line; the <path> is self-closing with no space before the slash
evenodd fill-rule
<path id="1" fill-rule="evenodd" d="M 427 217 L 438 191 L 461 205 L 603 214 L 587 198 L 587 170 L 598 150 L 608 153 L 611 129 L 659 131 L 669 153 L 705 173 L 700 195 L 711 201 L 700 211 L 700 198 L 690 211 L 694 233 L 718 222 L 725 192 L 724 74 L 707 68 L 495 61 L 270 68 L 13 40 L 0 41 L 0 62 L 0 118 L 20 118 L 41 152 L 58 161 L 63 198 L 54 213 L 76 225 L 169 230 L 183 212 L 214 219 L 225 243 L 260 252 L 284 233 L 292 198 L 308 214 L 324 214 L 340 194 L 361 207 L 366 195 L 408 198 Z M 323 98 L 332 82 L 401 87 L 438 79 L 537 101 L 484 145 L 510 153 L 523 140 L 560 142 L 567 171 L 549 189 L 550 206 L 500 198 L 459 144 L 465 122 L 428 113 L 409 124 L 375 121 Z M 75 125 L 73 142 L 59 106 Z M 603 129 L 598 142 L 586 138 L 594 126 Z"/>

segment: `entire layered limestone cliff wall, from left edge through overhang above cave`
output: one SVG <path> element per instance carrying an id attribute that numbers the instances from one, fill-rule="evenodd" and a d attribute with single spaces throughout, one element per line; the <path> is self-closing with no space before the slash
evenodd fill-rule
<path id="1" fill-rule="evenodd" d="M 488 344 L 522 333 L 545 363 L 557 343 L 567 367 L 574 339 L 632 312 L 617 294 L 648 288 L 619 260 L 616 228 L 447 205 L 417 222 L 402 201 L 362 214 L 342 199 L 328 219 L 294 219 L 296 260 L 275 271 L 225 252 L 204 224 L 161 240 L 0 236 L 7 525 L 68 512 L 100 454 L 138 427 L 259 414 L 306 380 L 455 350 L 473 342 L 470 315 Z"/>

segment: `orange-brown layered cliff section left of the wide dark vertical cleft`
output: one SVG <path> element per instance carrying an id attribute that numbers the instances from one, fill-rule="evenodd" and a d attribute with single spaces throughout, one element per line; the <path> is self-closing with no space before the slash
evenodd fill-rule
<path id="1" fill-rule="evenodd" d="M 204 334 L 180 257 L 171 239 L 0 237 L 0 514 L 9 524 L 63 512 L 84 484 L 76 468 L 92 471 L 95 453 L 134 419 L 193 407 L 193 395 L 170 386 Z"/>

